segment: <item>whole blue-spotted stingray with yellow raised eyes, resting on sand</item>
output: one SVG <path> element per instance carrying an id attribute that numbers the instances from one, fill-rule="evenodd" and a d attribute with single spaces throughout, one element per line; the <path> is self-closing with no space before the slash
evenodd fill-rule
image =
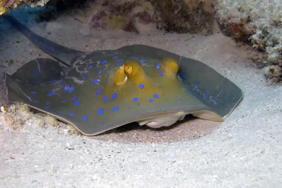
<path id="1" fill-rule="evenodd" d="M 208 65 L 163 49 L 132 45 L 82 52 L 33 33 L 12 16 L 4 18 L 58 60 L 38 58 L 6 73 L 8 101 L 71 123 L 84 135 L 134 121 L 170 126 L 188 114 L 224 121 L 243 97 Z"/>

